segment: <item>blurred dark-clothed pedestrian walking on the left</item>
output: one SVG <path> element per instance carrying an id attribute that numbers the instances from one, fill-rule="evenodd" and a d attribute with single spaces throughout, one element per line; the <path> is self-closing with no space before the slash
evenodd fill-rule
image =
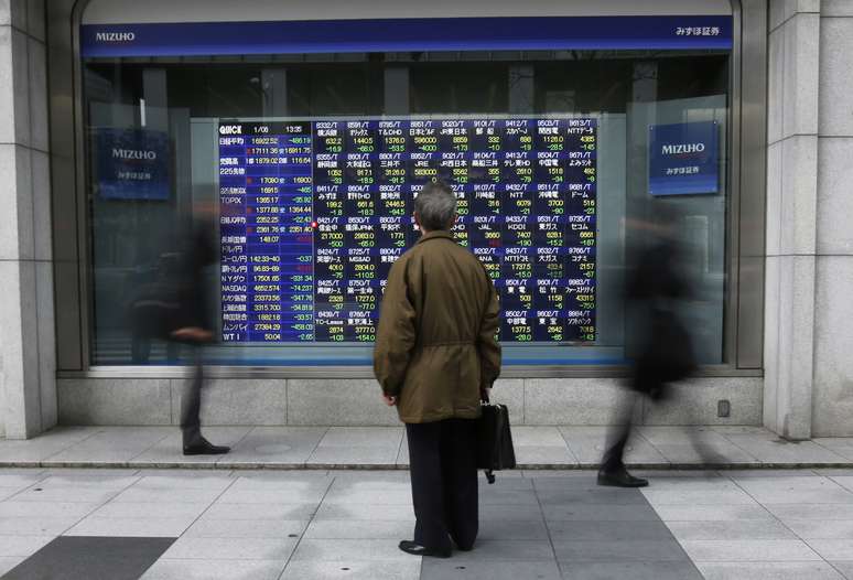
<path id="1" fill-rule="evenodd" d="M 195 219 L 188 224 L 177 268 L 179 311 L 173 321 L 172 341 L 186 344 L 192 350 L 193 378 L 184 391 L 181 405 L 181 430 L 184 455 L 219 455 L 230 451 L 224 445 L 214 445 L 202 437 L 201 408 L 204 386 L 204 347 L 214 340 L 214 322 L 210 313 L 210 284 L 205 278 L 205 268 L 216 261 L 216 249 L 210 236 L 210 225 L 205 208 L 196 211 Z"/>

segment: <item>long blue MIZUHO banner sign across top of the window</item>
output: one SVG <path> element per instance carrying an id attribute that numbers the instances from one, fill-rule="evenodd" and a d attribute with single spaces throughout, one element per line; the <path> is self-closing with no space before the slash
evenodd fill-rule
<path id="1" fill-rule="evenodd" d="M 732 18 L 530 17 L 86 24 L 84 57 L 393 51 L 730 50 Z"/>

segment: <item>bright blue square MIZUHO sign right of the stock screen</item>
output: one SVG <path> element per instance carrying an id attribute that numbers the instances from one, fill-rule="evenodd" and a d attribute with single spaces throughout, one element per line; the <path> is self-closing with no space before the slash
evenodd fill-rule
<path id="1" fill-rule="evenodd" d="M 649 193 L 717 193 L 719 133 L 716 121 L 649 126 Z"/>

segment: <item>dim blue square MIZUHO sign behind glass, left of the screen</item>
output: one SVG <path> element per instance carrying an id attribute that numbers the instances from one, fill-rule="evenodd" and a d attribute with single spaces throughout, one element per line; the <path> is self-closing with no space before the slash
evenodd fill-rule
<path id="1" fill-rule="evenodd" d="M 96 129 L 98 193 L 105 200 L 169 200 L 169 133 Z"/>

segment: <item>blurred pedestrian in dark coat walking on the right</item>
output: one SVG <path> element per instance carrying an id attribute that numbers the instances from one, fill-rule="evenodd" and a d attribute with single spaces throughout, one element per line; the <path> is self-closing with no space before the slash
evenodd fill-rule
<path id="1" fill-rule="evenodd" d="M 669 385 L 687 378 L 695 367 L 690 333 L 678 314 L 679 302 L 690 296 L 690 284 L 679 267 L 672 224 L 643 227 L 649 234 L 648 244 L 628 273 L 625 293 L 628 350 L 634 367 L 629 393 L 616 409 L 598 485 L 648 485 L 647 480 L 628 473 L 623 460 L 636 404 L 643 396 L 652 401 L 666 399 Z"/>

